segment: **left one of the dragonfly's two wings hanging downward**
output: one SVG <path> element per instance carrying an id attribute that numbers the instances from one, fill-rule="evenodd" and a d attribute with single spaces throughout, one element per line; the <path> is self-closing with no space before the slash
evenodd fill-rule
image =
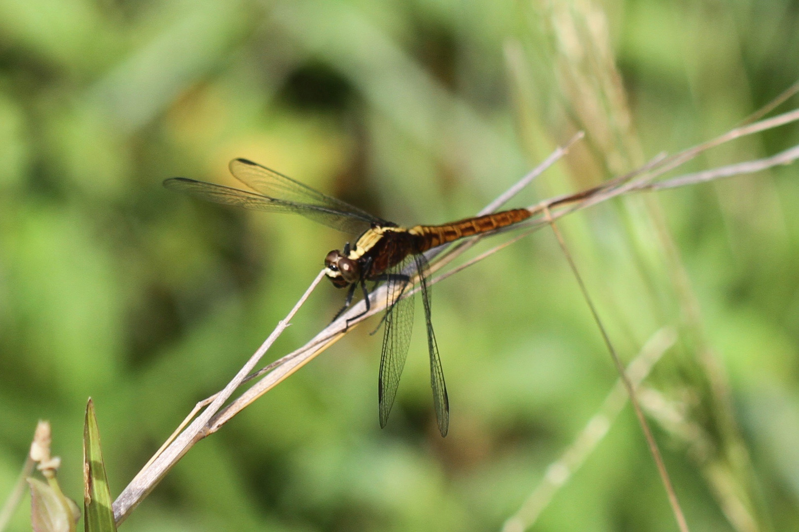
<path id="1" fill-rule="evenodd" d="M 383 351 L 380 353 L 380 376 L 378 378 L 378 401 L 380 407 L 380 428 L 388 422 L 392 411 L 400 376 L 405 367 L 407 349 L 411 345 L 413 330 L 413 296 L 400 299 L 400 295 L 411 289 L 407 275 L 401 274 L 403 261 L 388 273 L 386 281 L 387 301 L 383 333 Z"/>

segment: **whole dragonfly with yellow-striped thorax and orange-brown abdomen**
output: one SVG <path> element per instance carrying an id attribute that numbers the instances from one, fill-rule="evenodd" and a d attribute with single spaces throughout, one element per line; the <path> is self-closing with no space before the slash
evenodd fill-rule
<path id="1" fill-rule="evenodd" d="M 409 290 L 409 287 L 419 284 L 418 292 L 421 294 L 427 327 L 435 417 L 439 432 L 446 436 L 449 430 L 449 399 L 431 321 L 431 287 L 426 278 L 429 265 L 424 252 L 460 238 L 522 222 L 530 218 L 531 211 L 511 209 L 442 225 L 401 227 L 249 160 L 235 159 L 230 162 L 229 170 L 233 177 L 251 190 L 184 177 L 166 179 L 164 186 L 215 203 L 302 215 L 345 234 L 358 235 L 352 245 L 346 242 L 341 250 L 328 253 L 324 258 L 324 268 L 333 286 L 347 289 L 344 306 L 333 321 L 352 305 L 358 287 L 363 294 L 366 309 L 348 318 L 346 326 L 368 313 L 371 292 L 380 283 L 387 285 L 386 311 L 381 321 L 384 334 L 378 376 L 380 428 L 384 428 L 388 422 L 410 346 L 415 291 Z M 371 290 L 367 288 L 367 282 L 374 283 Z M 406 293 L 409 295 L 403 298 Z"/>

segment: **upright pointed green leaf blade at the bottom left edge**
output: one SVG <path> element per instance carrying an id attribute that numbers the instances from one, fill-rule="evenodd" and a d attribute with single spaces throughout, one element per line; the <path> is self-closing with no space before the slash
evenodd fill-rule
<path id="1" fill-rule="evenodd" d="M 83 512 L 86 532 L 116 532 L 111 492 L 100 449 L 100 430 L 89 398 L 83 425 Z"/>

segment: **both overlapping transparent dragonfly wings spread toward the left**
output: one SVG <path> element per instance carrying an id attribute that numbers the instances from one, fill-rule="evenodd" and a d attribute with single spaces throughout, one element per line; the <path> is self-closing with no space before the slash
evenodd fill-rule
<path id="1" fill-rule="evenodd" d="M 372 223 L 386 224 L 376 216 L 255 163 L 243 159 L 233 160 L 230 170 L 237 179 L 257 192 L 183 177 L 166 179 L 164 186 L 224 205 L 302 215 L 348 234 L 360 234 Z M 268 186 L 270 178 L 272 184 Z"/>

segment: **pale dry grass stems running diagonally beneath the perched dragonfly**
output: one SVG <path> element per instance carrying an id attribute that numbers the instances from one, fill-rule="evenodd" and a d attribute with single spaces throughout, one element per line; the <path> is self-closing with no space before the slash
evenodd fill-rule
<path id="1" fill-rule="evenodd" d="M 799 110 L 786 112 L 768 120 L 761 120 L 760 122 L 754 124 L 742 126 L 741 128 L 735 128 L 714 140 L 699 144 L 698 146 L 689 148 L 683 152 L 679 152 L 674 156 L 659 155 L 655 157 L 654 160 L 651 160 L 649 163 L 638 168 L 638 170 L 619 176 L 615 179 L 610 179 L 598 187 L 593 187 L 576 194 L 558 196 L 528 207 L 534 214 L 544 213 L 546 216 L 534 218 L 530 222 L 519 224 L 517 227 L 509 227 L 505 228 L 504 230 L 496 231 L 499 233 L 518 229 L 519 227 L 527 227 L 527 231 L 525 231 L 523 234 L 520 234 L 518 237 L 513 238 L 509 242 L 503 242 L 503 244 L 500 244 L 499 246 L 495 246 L 491 250 L 488 250 L 487 252 L 480 254 L 478 257 L 471 259 L 466 264 L 458 266 L 455 268 L 455 270 L 451 270 L 446 274 L 431 278 L 429 283 L 435 284 L 436 282 L 442 281 L 444 278 L 447 278 L 450 275 L 455 274 L 467 268 L 468 266 L 471 266 L 472 264 L 475 264 L 475 262 L 479 262 L 480 260 L 491 256 L 491 254 L 496 253 L 519 238 L 523 238 L 523 236 L 529 232 L 537 231 L 544 225 L 554 223 L 554 221 L 559 219 L 561 216 L 568 215 L 574 211 L 582 210 L 597 203 L 602 203 L 608 199 L 623 195 L 626 192 L 685 186 L 687 184 L 718 179 L 720 177 L 729 175 L 760 171 L 765 167 L 771 167 L 777 164 L 789 164 L 790 162 L 793 162 L 793 160 L 799 159 L 799 149 L 792 148 L 791 150 L 763 160 L 734 164 L 728 167 L 698 172 L 696 174 L 682 175 L 672 180 L 662 181 L 661 183 L 653 183 L 654 179 L 656 179 L 659 175 L 664 174 L 666 171 L 670 171 L 674 167 L 678 167 L 680 164 L 684 164 L 686 161 L 693 159 L 707 149 L 714 148 L 719 144 L 723 144 L 740 136 L 750 135 L 754 132 L 761 132 L 769 128 L 775 128 L 782 124 L 788 124 L 794 120 L 799 120 Z M 509 188 L 508 191 L 504 192 L 503 195 L 500 195 L 497 199 L 495 199 L 494 202 L 490 203 L 485 209 L 483 209 L 483 211 L 480 211 L 479 214 L 483 215 L 492 211 L 496 211 L 499 206 L 501 206 L 503 203 L 506 203 L 508 199 L 511 199 L 513 195 L 526 187 L 532 179 L 535 179 L 536 176 L 540 175 L 544 170 L 562 158 L 562 156 L 564 156 L 568 151 L 568 148 L 570 148 L 574 142 L 581 140 L 582 138 L 582 132 L 578 132 L 566 144 L 564 144 L 564 146 L 557 148 L 549 157 L 547 157 L 547 160 L 544 160 L 542 164 L 535 168 L 535 170 L 525 175 L 522 179 L 519 179 L 519 181 Z M 487 235 L 488 234 L 479 235 L 478 237 L 470 238 L 463 242 L 457 242 L 452 246 L 442 246 L 439 249 L 431 250 L 431 252 L 428 252 L 427 254 L 427 259 L 429 261 L 439 254 L 442 254 L 442 252 L 443 256 L 438 257 L 438 259 L 435 261 L 431 261 L 430 273 L 434 273 L 443 266 L 447 265 L 447 263 L 463 254 L 466 250 L 470 249 L 471 246 L 474 246 L 476 242 L 479 242 L 480 239 Z M 151 459 L 145 468 L 143 468 L 139 474 L 136 475 L 133 481 L 129 483 L 129 486 L 125 487 L 125 490 L 122 491 L 119 498 L 117 498 L 117 501 L 114 502 L 114 514 L 117 522 L 121 522 L 125 517 L 127 517 L 129 512 L 133 510 L 133 508 L 135 508 L 139 502 L 141 502 L 141 499 L 148 495 L 149 491 L 152 491 L 153 487 L 157 485 L 166 472 L 169 471 L 169 469 L 173 467 L 175 463 L 177 463 L 177 460 L 179 460 L 194 443 L 199 441 L 199 439 L 216 432 L 228 420 L 232 419 L 233 416 L 236 416 L 236 414 L 243 408 L 246 408 L 248 404 L 251 404 L 253 400 L 256 400 L 265 392 L 268 392 L 270 389 L 274 388 L 276 384 L 279 384 L 297 369 L 307 364 L 308 361 L 311 361 L 314 357 L 316 357 L 316 355 L 324 352 L 325 349 L 328 349 L 330 345 L 333 345 L 336 343 L 336 341 L 340 340 L 341 337 L 344 337 L 344 334 L 348 333 L 349 330 L 353 329 L 361 321 L 364 321 L 368 317 L 371 317 L 376 313 L 380 313 L 385 309 L 386 287 L 380 286 L 371 294 L 370 301 L 372 301 L 372 308 L 370 309 L 369 313 L 364 314 L 357 320 L 350 321 L 348 327 L 345 325 L 348 318 L 364 312 L 365 302 L 359 301 L 355 305 L 352 305 L 352 307 L 348 309 L 348 311 L 344 313 L 337 321 L 320 331 L 320 333 L 313 337 L 311 341 L 308 341 L 306 345 L 296 349 L 292 353 L 288 353 L 284 357 L 280 357 L 257 372 L 250 374 L 252 368 L 254 368 L 258 361 L 260 361 L 260 358 L 264 355 L 269 346 L 272 345 L 272 342 L 278 336 L 280 336 L 280 333 L 282 333 L 285 327 L 288 325 L 288 321 L 293 317 L 294 313 L 296 313 L 296 310 L 300 308 L 304 300 L 308 298 L 308 295 L 311 293 L 316 284 L 320 282 L 322 277 L 324 277 L 324 270 L 317 275 L 315 281 L 312 283 L 312 286 L 306 291 L 303 298 L 300 299 L 295 308 L 292 309 L 292 312 L 288 314 L 288 317 L 284 321 L 280 321 L 280 324 L 276 327 L 268 339 L 264 341 L 264 345 L 261 345 L 260 349 L 258 349 L 258 351 L 250 358 L 248 363 L 240 369 L 240 371 L 237 373 L 237 376 L 235 376 L 234 379 L 231 380 L 221 392 L 210 397 L 208 400 L 198 403 L 193 412 L 186 417 L 181 426 L 177 428 L 170 439 L 164 444 L 164 446 L 161 447 L 157 454 L 153 456 L 153 459 Z M 407 295 L 413 294 L 415 290 L 418 290 L 418 286 L 413 290 L 408 290 L 406 297 Z M 222 408 L 225 402 L 229 400 L 230 396 L 233 395 L 233 392 L 240 386 L 240 384 L 244 384 L 244 382 L 255 379 L 256 377 L 262 378 L 256 382 L 256 384 L 253 384 L 251 388 L 248 388 L 246 392 L 242 393 L 239 397 Z M 193 416 L 199 412 L 201 408 L 205 407 L 206 404 L 209 404 L 209 402 L 210 405 L 208 408 L 205 408 L 205 411 L 203 411 L 200 416 L 197 416 L 197 418 L 194 419 L 191 424 L 189 424 L 188 428 L 185 428 L 186 424 L 189 423 L 189 420 L 192 420 Z M 185 428 L 185 430 L 183 430 L 183 428 Z M 681 516 L 682 514 L 679 514 L 678 520 L 680 520 Z M 687 529 L 683 528 L 682 530 Z"/>

